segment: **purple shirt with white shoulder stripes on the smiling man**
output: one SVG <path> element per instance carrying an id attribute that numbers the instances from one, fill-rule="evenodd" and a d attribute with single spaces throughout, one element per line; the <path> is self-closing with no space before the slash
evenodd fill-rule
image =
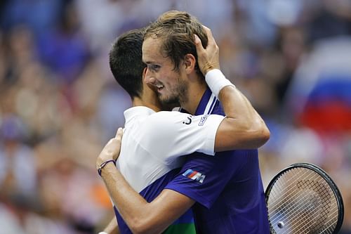
<path id="1" fill-rule="evenodd" d="M 209 89 L 195 115 L 202 114 L 224 115 Z M 270 233 L 258 150 L 217 152 L 215 157 L 195 152 L 185 158 L 180 173 L 165 188 L 197 202 L 197 233 Z"/>

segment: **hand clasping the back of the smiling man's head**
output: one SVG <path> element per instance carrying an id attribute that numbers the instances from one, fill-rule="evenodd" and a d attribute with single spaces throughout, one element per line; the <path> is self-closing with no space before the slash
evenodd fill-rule
<path id="1" fill-rule="evenodd" d="M 210 70 L 220 69 L 219 48 L 212 36 L 211 30 L 204 25 L 202 25 L 202 27 L 204 27 L 208 37 L 207 47 L 204 48 L 204 46 L 202 46 L 201 40 L 196 34 L 194 35 L 194 44 L 197 48 L 197 62 L 199 63 L 199 68 L 202 74 L 206 75 Z"/>

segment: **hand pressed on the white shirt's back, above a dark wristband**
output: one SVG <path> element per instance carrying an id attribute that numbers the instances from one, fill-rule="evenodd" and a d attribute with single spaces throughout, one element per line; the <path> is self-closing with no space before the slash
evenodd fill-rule
<path id="1" fill-rule="evenodd" d="M 96 159 L 96 169 L 100 167 L 103 162 L 107 160 L 117 160 L 119 152 L 121 150 L 121 140 L 123 136 L 123 129 L 119 128 L 114 138 L 111 138 L 109 142 L 100 152 L 100 155 Z"/>

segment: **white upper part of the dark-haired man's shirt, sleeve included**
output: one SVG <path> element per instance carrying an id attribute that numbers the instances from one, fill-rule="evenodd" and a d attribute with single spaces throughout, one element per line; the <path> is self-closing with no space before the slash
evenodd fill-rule
<path id="1" fill-rule="evenodd" d="M 154 112 L 138 106 L 124 112 L 126 124 L 117 167 L 140 193 L 171 169 L 180 167 L 182 155 L 214 155 L 221 115 L 192 116 L 182 112 Z"/>

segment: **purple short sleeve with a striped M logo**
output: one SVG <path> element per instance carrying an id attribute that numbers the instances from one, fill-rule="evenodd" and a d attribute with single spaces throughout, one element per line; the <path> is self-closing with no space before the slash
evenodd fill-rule
<path id="1" fill-rule="evenodd" d="M 195 152 L 187 155 L 179 174 L 166 189 L 175 190 L 210 208 L 228 181 L 241 169 L 244 155 L 239 151 L 217 152 L 215 157 Z M 239 157 L 241 156 L 241 157 Z"/>

